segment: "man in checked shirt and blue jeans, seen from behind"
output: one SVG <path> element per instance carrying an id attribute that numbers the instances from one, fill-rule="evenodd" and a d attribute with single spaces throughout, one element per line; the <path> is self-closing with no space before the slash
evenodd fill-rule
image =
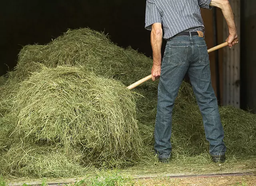
<path id="1" fill-rule="evenodd" d="M 229 47 L 238 43 L 234 16 L 228 0 L 147 0 L 146 25 L 151 31 L 153 51 L 152 80 L 159 80 L 155 126 L 155 151 L 161 162 L 171 156 L 172 109 L 182 80 L 188 72 L 203 116 L 206 139 L 214 162 L 224 162 L 226 146 L 217 99 L 212 88 L 210 61 L 204 41 L 204 24 L 200 7 L 222 10 L 228 24 Z M 167 40 L 164 57 L 161 45 Z"/>

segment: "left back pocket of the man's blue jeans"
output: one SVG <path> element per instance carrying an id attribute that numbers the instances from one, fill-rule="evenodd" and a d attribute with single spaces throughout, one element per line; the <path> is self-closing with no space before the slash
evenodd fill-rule
<path id="1" fill-rule="evenodd" d="M 182 65 L 186 63 L 188 56 L 188 46 L 172 46 L 169 47 L 169 63 L 172 65 Z"/>

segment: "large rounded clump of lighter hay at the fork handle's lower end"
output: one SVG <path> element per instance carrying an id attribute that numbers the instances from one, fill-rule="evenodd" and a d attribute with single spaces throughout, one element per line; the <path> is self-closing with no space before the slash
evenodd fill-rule
<path id="1" fill-rule="evenodd" d="M 74 67 L 44 68 L 21 83 L 14 102 L 13 137 L 78 148 L 96 165 L 138 159 L 135 103 L 120 82 Z"/>

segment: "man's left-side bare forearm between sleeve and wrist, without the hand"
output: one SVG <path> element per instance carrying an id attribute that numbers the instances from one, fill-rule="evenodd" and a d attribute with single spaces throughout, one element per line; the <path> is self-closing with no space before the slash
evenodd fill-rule
<path id="1" fill-rule="evenodd" d="M 161 65 L 161 47 L 162 47 L 162 29 L 152 29 L 151 31 L 151 46 L 153 51 L 153 65 Z"/>

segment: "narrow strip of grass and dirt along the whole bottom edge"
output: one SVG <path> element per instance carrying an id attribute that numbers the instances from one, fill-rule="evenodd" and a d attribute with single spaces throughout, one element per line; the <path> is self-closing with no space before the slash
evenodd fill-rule
<path id="1" fill-rule="evenodd" d="M 80 179 L 79 179 L 80 180 Z M 189 177 L 189 178 L 174 178 L 169 176 L 158 176 L 148 178 L 130 178 L 130 179 L 113 179 L 100 178 L 101 181 L 92 183 L 89 178 L 78 182 L 75 179 L 64 180 L 37 180 L 27 182 L 27 185 L 32 186 L 256 186 L 256 174 L 244 176 L 222 176 L 222 177 Z M 66 183 L 65 183 L 66 182 Z M 24 182 L 23 182 L 24 183 Z M 43 184 L 45 183 L 45 184 Z M 55 184 L 54 184 L 55 183 Z M 59 183 L 59 184 L 58 184 Z M 61 184 L 60 184 L 61 183 Z M 9 186 L 24 186 L 20 183 L 9 183 Z"/>

